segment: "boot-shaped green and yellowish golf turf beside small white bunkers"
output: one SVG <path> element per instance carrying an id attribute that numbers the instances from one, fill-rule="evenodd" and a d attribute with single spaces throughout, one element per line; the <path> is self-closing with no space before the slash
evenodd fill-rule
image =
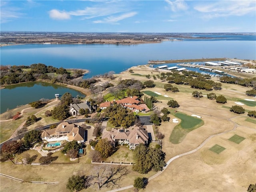
<path id="1" fill-rule="evenodd" d="M 180 112 L 172 114 L 181 120 L 181 122 L 174 127 L 170 135 L 169 140 L 173 144 L 179 144 L 186 137 L 186 134 L 204 124 L 203 120 Z"/>

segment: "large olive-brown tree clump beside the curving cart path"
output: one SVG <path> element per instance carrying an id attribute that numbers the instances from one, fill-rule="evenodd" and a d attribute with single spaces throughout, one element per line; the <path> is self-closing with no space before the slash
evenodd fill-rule
<path id="1" fill-rule="evenodd" d="M 157 148 L 150 148 L 144 144 L 136 146 L 134 150 L 135 165 L 132 167 L 134 171 L 140 174 L 147 174 L 149 171 L 160 171 L 166 165 L 165 153 Z"/>

